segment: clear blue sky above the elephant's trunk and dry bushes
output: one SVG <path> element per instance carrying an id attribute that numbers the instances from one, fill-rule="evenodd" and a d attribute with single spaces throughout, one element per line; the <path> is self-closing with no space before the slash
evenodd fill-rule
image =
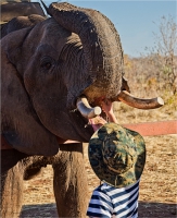
<path id="1" fill-rule="evenodd" d="M 43 0 L 43 2 L 49 5 L 52 1 Z M 106 15 L 121 36 L 124 53 L 131 57 L 146 53 L 146 47 L 153 47 L 153 32 L 159 32 L 154 22 L 159 24 L 162 16 L 168 17 L 168 15 L 177 21 L 177 1 L 175 0 L 67 0 L 67 2 L 77 7 L 96 9 Z"/>

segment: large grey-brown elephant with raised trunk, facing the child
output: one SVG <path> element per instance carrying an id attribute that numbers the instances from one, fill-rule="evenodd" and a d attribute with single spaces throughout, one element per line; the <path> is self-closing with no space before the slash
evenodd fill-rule
<path id="1" fill-rule="evenodd" d="M 18 217 L 23 180 L 53 167 L 59 217 L 86 217 L 83 143 L 100 99 L 136 108 L 162 106 L 138 99 L 124 77 L 121 38 L 101 12 L 67 2 L 8 22 L 1 38 L 1 217 Z"/>

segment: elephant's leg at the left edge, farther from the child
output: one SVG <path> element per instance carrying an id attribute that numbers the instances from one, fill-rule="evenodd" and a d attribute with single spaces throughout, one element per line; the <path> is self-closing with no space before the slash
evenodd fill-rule
<path id="1" fill-rule="evenodd" d="M 16 218 L 23 203 L 22 154 L 15 149 L 1 150 L 1 217 Z"/>

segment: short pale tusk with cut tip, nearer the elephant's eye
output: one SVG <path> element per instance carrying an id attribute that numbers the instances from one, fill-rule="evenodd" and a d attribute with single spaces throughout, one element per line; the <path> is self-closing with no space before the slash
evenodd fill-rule
<path id="1" fill-rule="evenodd" d="M 91 108 L 86 97 L 78 98 L 76 105 L 81 116 L 87 119 L 94 118 L 101 113 L 101 108 L 98 106 L 94 108 Z"/>

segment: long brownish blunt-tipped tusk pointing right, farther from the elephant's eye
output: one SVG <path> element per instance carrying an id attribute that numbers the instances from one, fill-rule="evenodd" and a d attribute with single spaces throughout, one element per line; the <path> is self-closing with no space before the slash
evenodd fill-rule
<path id="1" fill-rule="evenodd" d="M 134 97 L 126 90 L 121 92 L 118 96 L 113 100 L 114 101 L 121 100 L 127 104 L 128 106 L 143 110 L 160 108 L 164 105 L 164 100 L 161 97 L 151 99 L 141 99 Z"/>

